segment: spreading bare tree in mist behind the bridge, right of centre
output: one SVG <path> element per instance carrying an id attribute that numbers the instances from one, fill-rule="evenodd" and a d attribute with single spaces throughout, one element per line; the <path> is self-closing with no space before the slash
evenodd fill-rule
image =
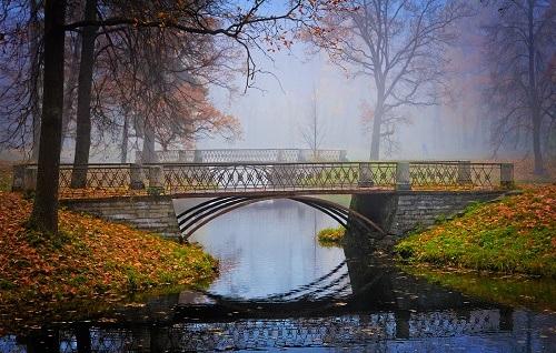
<path id="1" fill-rule="evenodd" d="M 332 7 L 325 30 L 312 32 L 334 61 L 373 78 L 370 159 L 404 120 L 398 108 L 437 103 L 450 26 L 469 13 L 457 0 L 354 0 Z"/>

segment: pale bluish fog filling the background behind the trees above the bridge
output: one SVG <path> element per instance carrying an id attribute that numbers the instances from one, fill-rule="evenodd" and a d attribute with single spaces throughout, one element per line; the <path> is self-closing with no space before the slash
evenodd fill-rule
<path id="1" fill-rule="evenodd" d="M 358 2 L 354 1 L 354 3 Z M 411 3 L 416 4 L 415 9 L 423 4 L 419 1 Z M 458 3 L 463 3 L 464 7 L 469 6 L 473 10 L 466 12 L 467 10 L 457 8 Z M 530 2 L 527 3 L 530 4 Z M 535 154 L 535 161 L 538 162 L 535 167 L 537 171 L 543 170 L 543 163 L 555 164 L 556 100 L 554 100 L 555 81 L 553 78 L 556 68 L 556 59 L 554 59 L 556 58 L 554 41 L 554 13 L 556 11 L 554 11 L 553 2 L 534 1 L 532 4 L 535 22 L 529 30 L 536 31 L 538 36 L 534 48 L 535 60 L 537 60 L 535 69 L 537 100 L 535 103 L 528 100 L 532 92 L 529 89 L 532 83 L 527 82 L 529 74 L 526 53 L 528 49 L 522 43 L 519 32 L 516 34 L 506 31 L 502 36 L 504 37 L 502 41 L 498 39 L 502 38 L 500 36 L 493 34 L 513 27 L 519 28 L 522 32 L 527 31 L 527 21 L 524 21 L 519 7 L 515 2 L 505 1 L 476 4 L 439 1 L 437 4 L 439 8 L 447 7 L 445 14 L 451 13 L 455 19 L 446 20 L 444 14 L 425 11 L 426 16 L 430 17 L 430 21 L 438 19 L 446 21 L 447 30 L 446 32 L 437 31 L 430 37 L 431 39 L 428 39 L 433 44 L 425 44 L 421 52 L 410 59 L 413 67 L 410 73 L 403 78 L 405 81 L 393 84 L 393 94 L 386 93 L 383 103 L 394 107 L 391 110 L 378 108 L 380 104 L 377 102 L 377 95 L 380 94 L 377 92 L 380 90 L 376 87 L 375 77 L 383 73 L 377 73 L 376 68 L 368 69 L 374 63 L 365 51 L 373 52 L 373 49 L 365 47 L 366 40 L 360 32 L 349 28 L 350 24 L 346 24 L 355 23 L 350 22 L 351 14 L 347 11 L 347 14 L 342 16 L 348 20 L 344 19 L 340 23 L 347 26 L 344 30 L 349 33 L 340 39 L 344 40 L 342 43 L 340 42 L 344 46 L 342 50 L 346 51 L 347 48 L 347 51 L 351 50 L 356 57 L 363 53 L 361 58 L 363 61 L 367 60 L 367 68 L 364 63 L 358 64 L 357 60 L 361 58 L 346 59 L 346 56 L 341 58 L 341 53 L 339 57 L 337 54 L 336 61 L 332 62 L 330 48 L 334 46 L 319 43 L 310 37 L 312 34 L 309 36 L 310 38 L 304 37 L 310 32 L 307 32 L 307 29 L 302 30 L 306 32 L 292 31 L 296 33 L 290 38 L 292 44 L 286 46 L 289 48 L 281 46 L 278 51 L 274 50 L 276 47 L 262 40 L 258 41 L 256 46 L 249 47 L 252 62 L 256 64 L 254 78 L 249 77 L 247 80 L 244 67 L 244 72 L 236 71 L 231 82 L 225 83 L 235 87 L 235 90 L 230 90 L 230 87 L 222 88 L 207 83 L 208 81 L 202 81 L 202 79 L 199 81 L 202 82 L 203 89 L 208 89 L 209 103 L 220 113 L 230 114 L 237 119 L 240 135 L 229 140 L 219 135 L 218 132 L 203 131 L 195 134 L 192 141 L 186 141 L 191 138 L 181 139 L 178 133 L 171 149 L 307 149 L 310 145 L 304 139 L 302 130 L 310 125 L 316 111 L 318 139 L 321 141 L 318 148 L 346 150 L 348 159 L 353 161 L 369 158 L 381 160 L 516 160 L 532 158 Z M 271 2 L 265 11 L 271 13 L 282 10 L 281 6 L 284 3 Z M 389 46 L 393 52 L 400 51 L 404 42 L 411 39 L 410 36 L 417 36 L 411 33 L 414 29 L 411 24 L 408 24 L 415 21 L 415 13 L 411 12 L 415 9 L 410 7 L 405 9 L 406 17 L 398 23 L 404 27 L 404 30 L 391 34 Z M 353 13 L 357 11 L 353 10 Z M 458 17 L 455 13 L 460 14 Z M 334 18 L 334 14 L 330 14 L 330 18 Z M 366 19 L 366 21 L 373 20 Z M 334 27 L 334 24 L 322 23 L 325 27 Z M 497 29 L 493 30 L 495 27 Z M 368 36 L 378 38 L 380 33 Z M 215 39 L 215 48 L 220 48 L 218 47 L 219 40 L 226 41 L 227 39 Z M 246 51 L 241 46 L 230 49 L 229 53 L 234 53 L 237 60 L 227 58 L 229 68 L 238 69 L 245 65 Z M 396 58 L 388 50 L 384 56 Z M 403 56 L 408 54 L 403 53 Z M 215 75 L 221 73 L 221 77 L 227 77 L 234 71 L 220 72 L 221 67 L 217 64 L 215 68 Z M 399 67 L 390 69 L 385 69 L 388 78 L 385 79 L 384 85 L 391 83 L 393 77 L 395 78 L 396 73 L 400 72 Z M 365 72 L 361 73 L 361 71 Z M 510 82 L 506 83 L 505 80 L 510 80 Z M 246 88 L 246 81 L 249 83 L 248 88 Z M 406 94 L 411 92 L 413 88 L 415 94 L 410 93 L 407 99 Z M 404 101 L 405 98 L 406 101 Z M 118 102 L 107 104 L 116 107 Z M 148 110 L 149 104 L 145 105 Z M 183 105 L 187 108 L 188 102 Z M 537 119 L 533 117 L 535 109 L 532 107 L 535 107 L 540 114 Z M 183 109 L 173 115 L 181 117 L 182 121 L 188 119 L 193 121 L 191 117 L 195 113 L 191 112 L 196 109 L 192 107 L 187 113 L 183 113 L 187 110 Z M 374 120 L 375 110 L 377 110 L 376 117 L 380 117 L 376 120 Z M 507 117 L 505 117 L 506 113 Z M 133 119 L 138 115 L 141 115 L 140 111 Z M 151 119 L 157 124 L 156 120 L 159 115 L 152 115 L 152 118 L 145 118 L 142 122 L 142 118 L 139 117 L 139 122 L 136 121 L 135 125 L 129 128 L 128 162 L 136 161 L 135 152 L 145 148 L 141 145 L 143 134 L 137 125 L 152 124 L 152 122 L 146 122 L 146 119 Z M 119 162 L 119 155 L 125 154 L 119 145 L 122 141 L 122 117 L 118 113 L 108 118 L 99 117 L 95 119 L 109 118 L 112 121 L 105 122 L 106 131 L 99 132 L 98 129 L 93 131 L 90 161 Z M 396 120 L 389 123 L 388 119 Z M 536 120 L 539 121 L 537 127 L 539 133 L 533 132 Z M 373 121 L 379 121 L 379 128 L 376 130 L 389 137 L 388 140 L 384 137 L 375 139 L 375 141 L 380 141 L 380 148 L 375 149 L 378 153 L 375 153 L 375 158 L 371 157 Z M 190 124 L 195 123 L 190 122 Z M 187 125 L 187 122 L 183 124 Z M 67 163 L 73 161 L 76 149 L 75 122 L 71 121 L 69 127 L 73 130 L 63 141 L 61 157 L 62 162 Z M 160 137 L 156 139 L 158 140 L 156 140 L 155 149 L 161 150 Z M 23 139 L 23 141 L 29 140 L 29 137 Z M 535 153 L 534 145 L 540 145 Z M 540 154 L 544 155 L 545 161 L 542 161 Z"/>

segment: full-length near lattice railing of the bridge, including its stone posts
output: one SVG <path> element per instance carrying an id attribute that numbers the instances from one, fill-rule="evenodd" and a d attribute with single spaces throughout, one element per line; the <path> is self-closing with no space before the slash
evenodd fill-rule
<path id="1" fill-rule="evenodd" d="M 71 175 L 87 173 L 83 188 Z M 13 190 L 33 191 L 37 165 L 14 167 Z M 469 161 L 331 163 L 168 163 L 60 165 L 61 199 L 227 193 L 361 193 L 374 190 L 497 190 L 513 164 Z"/>

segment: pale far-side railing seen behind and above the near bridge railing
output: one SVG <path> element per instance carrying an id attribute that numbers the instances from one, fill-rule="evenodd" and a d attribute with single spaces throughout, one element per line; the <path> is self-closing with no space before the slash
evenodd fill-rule
<path id="1" fill-rule="evenodd" d="M 347 162 L 346 150 L 310 149 L 216 149 L 156 151 L 157 163 L 294 163 Z M 141 151 L 136 161 L 142 161 Z"/>

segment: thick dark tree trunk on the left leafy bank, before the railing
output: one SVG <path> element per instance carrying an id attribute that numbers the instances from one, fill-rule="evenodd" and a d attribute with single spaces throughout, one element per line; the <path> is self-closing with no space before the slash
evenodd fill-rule
<path id="1" fill-rule="evenodd" d="M 37 193 L 31 214 L 36 229 L 58 232 L 58 179 L 60 174 L 63 110 L 63 30 L 66 0 L 44 3 L 44 71 Z"/>

